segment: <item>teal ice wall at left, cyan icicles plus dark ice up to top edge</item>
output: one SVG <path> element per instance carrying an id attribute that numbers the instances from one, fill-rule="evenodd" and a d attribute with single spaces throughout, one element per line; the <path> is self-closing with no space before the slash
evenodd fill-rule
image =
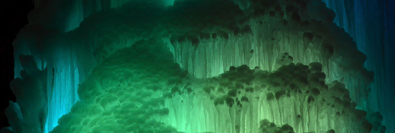
<path id="1" fill-rule="evenodd" d="M 40 133 L 48 133 L 57 126 L 58 119 L 68 113 L 79 100 L 78 84 L 94 65 L 94 62 L 87 61 L 89 55 L 79 54 L 83 52 L 69 45 L 72 42 L 62 40 L 60 36 L 65 34 L 63 32 L 79 27 L 84 18 L 100 11 L 102 6 L 109 6 L 101 1 L 35 0 L 36 8 L 28 16 L 29 25 L 18 34 L 13 43 L 15 59 L 20 55 L 33 55 L 39 69 L 48 69 L 45 79 L 48 111 L 46 125 Z M 52 40 L 48 39 L 51 37 Z M 81 56 L 87 58 L 80 59 Z M 22 69 L 19 60 L 15 60 L 15 78 L 21 77 L 19 71 Z"/>

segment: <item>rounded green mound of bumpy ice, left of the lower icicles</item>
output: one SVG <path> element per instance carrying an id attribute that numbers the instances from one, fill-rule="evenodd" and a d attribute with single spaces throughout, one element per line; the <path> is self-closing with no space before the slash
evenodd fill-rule
<path id="1" fill-rule="evenodd" d="M 162 92 L 187 73 L 164 48 L 142 41 L 105 59 L 79 86 L 80 101 L 51 133 L 177 133 L 160 121 L 169 113 Z"/>

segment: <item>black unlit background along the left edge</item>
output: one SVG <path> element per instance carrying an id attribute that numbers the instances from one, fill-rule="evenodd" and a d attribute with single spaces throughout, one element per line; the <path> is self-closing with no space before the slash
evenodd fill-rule
<path id="1" fill-rule="evenodd" d="M 34 9 L 33 0 L 0 0 L 0 126 L 9 127 L 4 109 L 8 101 L 15 101 L 9 83 L 14 78 L 14 50 L 12 41 L 19 30 L 28 24 L 28 13 Z M 0 129 L 1 129 L 0 128 Z"/>

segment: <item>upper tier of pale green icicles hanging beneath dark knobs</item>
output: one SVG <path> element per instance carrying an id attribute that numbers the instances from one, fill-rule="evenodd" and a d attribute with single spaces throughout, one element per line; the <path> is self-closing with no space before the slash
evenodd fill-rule
<path id="1" fill-rule="evenodd" d="M 352 38 L 332 23 L 335 14 L 323 2 L 263 0 L 251 1 L 249 5 L 244 14 L 237 10 L 227 12 L 226 15 L 235 16 L 231 20 L 206 20 L 222 25 L 212 32 L 191 28 L 191 32 L 172 34 L 175 61 L 196 77 L 210 77 L 243 64 L 275 70 L 285 61 L 281 54 L 288 53 L 297 63 L 324 64 L 327 80 L 341 80 L 347 88 L 355 88 L 350 90 L 351 98 L 359 107 L 365 107 L 361 105 L 366 104 L 367 86 L 372 81 L 372 73 L 362 67 L 366 57 L 356 50 Z M 186 8 L 190 10 L 185 12 L 204 14 L 193 7 Z M 182 17 L 187 21 L 206 19 Z"/>

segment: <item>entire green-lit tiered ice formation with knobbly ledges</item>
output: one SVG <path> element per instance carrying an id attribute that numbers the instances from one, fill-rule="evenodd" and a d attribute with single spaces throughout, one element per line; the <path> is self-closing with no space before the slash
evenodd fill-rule
<path id="1" fill-rule="evenodd" d="M 19 35 L 15 45 L 29 49 L 17 55 L 34 53 L 56 70 L 77 68 L 83 79 L 80 101 L 53 133 L 256 133 L 262 119 L 292 125 L 284 132 L 385 131 L 380 114 L 368 114 L 369 122 L 355 109 L 372 73 L 319 0 L 119 3 L 67 33 L 31 25 Z"/>

